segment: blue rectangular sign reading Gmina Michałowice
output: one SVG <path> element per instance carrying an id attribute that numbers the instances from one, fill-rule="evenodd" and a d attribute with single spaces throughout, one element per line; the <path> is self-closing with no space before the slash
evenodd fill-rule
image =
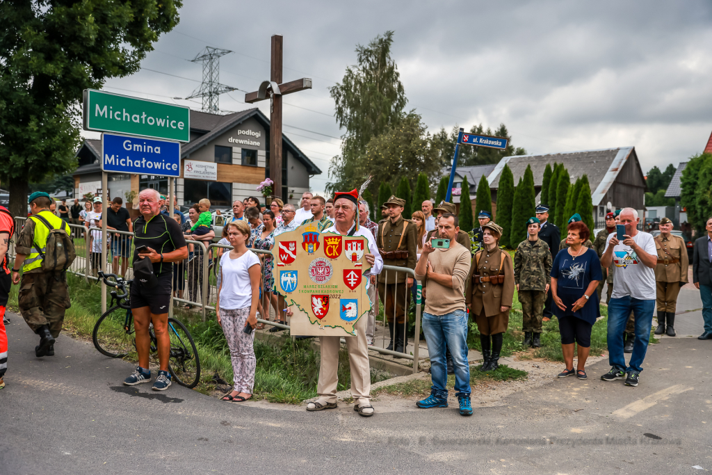
<path id="1" fill-rule="evenodd" d="M 102 134 L 104 172 L 180 176 L 180 144 L 168 140 Z"/>

